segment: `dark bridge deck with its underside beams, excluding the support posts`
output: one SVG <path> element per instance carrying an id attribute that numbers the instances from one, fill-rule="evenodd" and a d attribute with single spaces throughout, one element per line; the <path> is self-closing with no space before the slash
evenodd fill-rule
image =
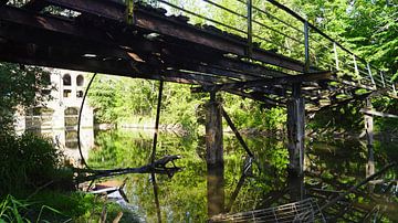
<path id="1" fill-rule="evenodd" d="M 292 85 L 301 83 L 307 110 L 363 98 L 376 89 L 395 91 L 386 74 L 338 44 L 354 57 L 355 68 L 337 70 L 344 60 L 338 60 L 336 43 L 332 63 L 337 67 L 331 67 L 310 63 L 308 55 L 300 60 L 304 56 L 266 50 L 251 40 L 258 35 L 249 31 L 242 38 L 212 25 L 193 25 L 186 17 L 166 15 L 166 10 L 148 4 L 134 2 L 129 8 L 133 1 L 127 6 L 117 0 L 1 2 L 1 61 L 195 84 L 199 86 L 195 91 L 226 91 L 279 106 L 291 97 Z M 302 35 L 308 41 L 305 32 Z M 310 52 L 308 42 L 302 46 Z"/>

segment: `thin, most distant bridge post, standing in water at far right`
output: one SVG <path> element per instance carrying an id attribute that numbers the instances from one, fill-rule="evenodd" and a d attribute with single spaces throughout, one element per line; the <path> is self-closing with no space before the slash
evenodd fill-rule
<path id="1" fill-rule="evenodd" d="M 370 98 L 366 98 L 366 109 L 371 109 Z M 365 131 L 367 139 L 367 150 L 368 150 L 368 162 L 366 164 L 366 177 L 369 177 L 375 173 L 375 158 L 374 158 L 374 123 L 373 116 L 364 114 L 365 117 Z"/>

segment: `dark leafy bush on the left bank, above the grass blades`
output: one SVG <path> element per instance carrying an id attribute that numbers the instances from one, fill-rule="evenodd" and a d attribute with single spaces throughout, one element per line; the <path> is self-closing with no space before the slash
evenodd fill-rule
<path id="1" fill-rule="evenodd" d="M 31 134 L 0 132 L 0 194 L 35 190 L 56 181 L 61 172 L 62 153 L 49 140 Z"/>

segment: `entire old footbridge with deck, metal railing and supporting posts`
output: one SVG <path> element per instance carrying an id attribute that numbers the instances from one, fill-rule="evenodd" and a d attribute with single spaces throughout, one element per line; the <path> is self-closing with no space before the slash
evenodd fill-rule
<path id="1" fill-rule="evenodd" d="M 197 0 L 195 6 L 168 0 L 1 0 L 0 60 L 192 84 L 192 92 L 209 92 L 210 166 L 223 162 L 221 116 L 229 119 L 217 92 L 285 106 L 290 164 L 298 174 L 305 113 L 375 92 L 397 94 L 389 74 L 285 6 L 235 1 L 240 10 L 216 0 Z M 200 8 L 212 13 L 196 10 Z M 212 17 L 217 12 L 233 22 Z"/>

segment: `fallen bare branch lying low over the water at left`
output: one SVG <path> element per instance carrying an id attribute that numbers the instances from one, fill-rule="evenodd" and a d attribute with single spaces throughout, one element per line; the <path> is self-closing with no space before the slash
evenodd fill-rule
<path id="1" fill-rule="evenodd" d="M 181 168 L 176 167 L 174 163 L 175 160 L 180 159 L 180 156 L 165 156 L 159 160 L 156 160 L 153 163 L 139 167 L 139 168 L 119 168 L 119 169 L 111 169 L 111 170 L 93 170 L 93 169 L 78 169 L 75 168 L 74 171 L 77 173 L 76 179 L 80 182 L 92 181 L 100 178 L 107 178 L 114 176 L 122 176 L 128 173 L 158 173 L 158 174 L 167 174 L 171 178 L 176 172 L 181 171 Z M 169 162 L 171 162 L 171 167 L 166 167 Z"/>

